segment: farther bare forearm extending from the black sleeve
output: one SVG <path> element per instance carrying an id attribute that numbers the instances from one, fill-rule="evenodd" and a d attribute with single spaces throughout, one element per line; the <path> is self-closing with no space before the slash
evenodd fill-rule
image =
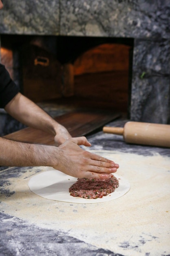
<path id="1" fill-rule="evenodd" d="M 54 135 L 54 140 L 58 145 L 71 138 L 71 135 L 64 126 L 58 124 L 44 110 L 20 92 L 16 94 L 4 109 L 22 124 Z"/>

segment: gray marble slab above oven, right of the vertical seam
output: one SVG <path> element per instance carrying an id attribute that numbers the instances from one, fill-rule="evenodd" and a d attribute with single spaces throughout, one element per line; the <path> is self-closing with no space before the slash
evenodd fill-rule
<path id="1" fill-rule="evenodd" d="M 170 38 L 170 2 L 61 1 L 62 35 Z"/>

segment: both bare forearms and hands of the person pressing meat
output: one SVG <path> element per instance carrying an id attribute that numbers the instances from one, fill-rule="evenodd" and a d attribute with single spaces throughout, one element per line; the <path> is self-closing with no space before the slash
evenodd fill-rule
<path id="1" fill-rule="evenodd" d="M 118 164 L 83 150 L 91 146 L 85 137 L 72 138 L 68 131 L 35 103 L 18 93 L 5 110 L 27 126 L 55 136 L 59 147 L 29 144 L 0 138 L 1 166 L 51 166 L 74 177 L 106 178 L 117 171 Z"/>

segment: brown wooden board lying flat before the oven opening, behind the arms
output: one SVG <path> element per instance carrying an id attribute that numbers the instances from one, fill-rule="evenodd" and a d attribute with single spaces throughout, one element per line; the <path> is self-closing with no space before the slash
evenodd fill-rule
<path id="1" fill-rule="evenodd" d="M 109 110 L 76 110 L 55 117 L 55 120 L 65 126 L 72 137 L 79 137 L 87 135 L 119 116 L 119 113 Z M 30 127 L 13 132 L 4 136 L 4 138 L 29 143 L 54 144 L 53 135 Z"/>

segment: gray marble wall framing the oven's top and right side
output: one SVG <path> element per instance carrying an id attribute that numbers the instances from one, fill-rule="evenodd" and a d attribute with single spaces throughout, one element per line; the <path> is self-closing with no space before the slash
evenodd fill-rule
<path id="1" fill-rule="evenodd" d="M 134 38 L 130 118 L 170 124 L 169 0 L 5 0 L 1 34 Z"/>

